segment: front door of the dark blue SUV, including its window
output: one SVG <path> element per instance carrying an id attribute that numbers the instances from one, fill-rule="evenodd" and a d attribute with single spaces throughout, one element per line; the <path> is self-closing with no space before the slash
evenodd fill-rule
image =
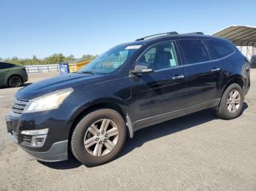
<path id="1" fill-rule="evenodd" d="M 136 127 L 163 120 L 187 106 L 187 77 L 174 42 L 149 48 L 136 65 L 153 69 L 130 77 Z"/>

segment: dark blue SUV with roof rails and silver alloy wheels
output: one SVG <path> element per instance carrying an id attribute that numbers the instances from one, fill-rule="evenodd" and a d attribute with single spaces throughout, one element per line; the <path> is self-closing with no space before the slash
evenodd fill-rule
<path id="1" fill-rule="evenodd" d="M 76 74 L 19 90 L 6 117 L 12 139 L 38 160 L 89 166 L 113 160 L 136 130 L 212 108 L 238 117 L 249 62 L 229 41 L 170 32 L 121 44 Z"/>

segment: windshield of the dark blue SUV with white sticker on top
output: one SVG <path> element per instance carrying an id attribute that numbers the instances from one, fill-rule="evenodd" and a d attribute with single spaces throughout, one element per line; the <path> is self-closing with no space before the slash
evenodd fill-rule
<path id="1" fill-rule="evenodd" d="M 78 73 L 109 74 L 118 69 L 141 45 L 113 47 L 88 63 Z"/>

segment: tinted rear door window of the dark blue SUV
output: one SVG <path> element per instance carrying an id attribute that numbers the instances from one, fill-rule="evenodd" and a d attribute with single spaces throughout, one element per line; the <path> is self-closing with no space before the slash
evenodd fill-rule
<path id="1" fill-rule="evenodd" d="M 200 40 L 180 40 L 178 43 L 187 64 L 211 60 L 205 45 Z"/>

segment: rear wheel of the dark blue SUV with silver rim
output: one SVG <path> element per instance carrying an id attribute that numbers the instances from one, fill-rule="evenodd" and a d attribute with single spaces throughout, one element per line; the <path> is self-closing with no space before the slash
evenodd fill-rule
<path id="1" fill-rule="evenodd" d="M 240 98 L 238 98 L 235 94 L 238 92 Z M 234 95 L 236 98 L 233 98 Z M 231 103 L 231 106 L 230 104 Z M 232 104 L 235 106 L 233 107 Z M 239 104 L 239 105 L 238 105 Z M 222 95 L 222 100 L 220 101 L 219 107 L 216 110 L 216 114 L 218 117 L 224 120 L 231 120 L 238 117 L 241 114 L 244 105 L 244 91 L 242 90 L 241 86 L 233 83 Z M 231 111 L 230 111 L 231 109 Z"/>

